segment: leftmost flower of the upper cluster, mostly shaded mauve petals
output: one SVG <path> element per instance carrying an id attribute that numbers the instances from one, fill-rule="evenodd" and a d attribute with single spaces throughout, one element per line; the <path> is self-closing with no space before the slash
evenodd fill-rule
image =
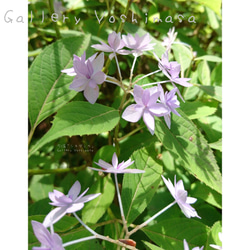
<path id="1" fill-rule="evenodd" d="M 62 70 L 75 78 L 70 89 L 81 92 L 84 91 L 85 98 L 92 104 L 94 104 L 99 95 L 98 85 L 102 84 L 106 75 L 102 72 L 104 64 L 104 53 L 101 53 L 97 57 L 97 53 L 86 60 L 86 52 L 81 57 L 74 55 L 73 67 Z"/>

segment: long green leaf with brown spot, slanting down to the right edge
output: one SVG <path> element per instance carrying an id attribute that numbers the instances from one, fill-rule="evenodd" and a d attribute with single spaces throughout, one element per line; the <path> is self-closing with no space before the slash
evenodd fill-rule
<path id="1" fill-rule="evenodd" d="M 199 129 L 179 110 L 169 130 L 163 119 L 155 120 L 155 135 L 180 165 L 197 179 L 221 193 L 221 173 L 212 150 Z"/>

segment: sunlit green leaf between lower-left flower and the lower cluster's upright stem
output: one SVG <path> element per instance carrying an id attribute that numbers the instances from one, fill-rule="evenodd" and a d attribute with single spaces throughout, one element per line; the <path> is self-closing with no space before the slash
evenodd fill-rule
<path id="1" fill-rule="evenodd" d="M 96 223 L 107 211 L 115 195 L 115 186 L 110 177 L 99 178 L 92 184 L 88 194 L 101 193 L 97 198 L 85 204 L 82 210 L 82 220 L 84 223 Z"/>

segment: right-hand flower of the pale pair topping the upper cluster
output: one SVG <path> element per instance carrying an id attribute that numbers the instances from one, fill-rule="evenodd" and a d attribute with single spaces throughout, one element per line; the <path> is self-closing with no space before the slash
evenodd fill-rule
<path id="1" fill-rule="evenodd" d="M 143 51 L 148 51 L 154 49 L 155 43 L 150 43 L 151 38 L 149 33 L 146 33 L 142 37 L 136 33 L 135 36 L 128 34 L 127 36 L 122 35 L 122 40 L 125 46 L 132 49 L 132 53 L 136 56 L 140 56 Z"/>

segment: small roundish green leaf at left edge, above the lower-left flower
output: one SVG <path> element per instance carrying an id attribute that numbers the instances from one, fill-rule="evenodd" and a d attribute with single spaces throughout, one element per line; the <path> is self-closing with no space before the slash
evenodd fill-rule
<path id="1" fill-rule="evenodd" d="M 48 193 L 54 188 L 54 175 L 34 175 L 30 182 L 29 191 L 33 201 L 48 198 Z"/>

